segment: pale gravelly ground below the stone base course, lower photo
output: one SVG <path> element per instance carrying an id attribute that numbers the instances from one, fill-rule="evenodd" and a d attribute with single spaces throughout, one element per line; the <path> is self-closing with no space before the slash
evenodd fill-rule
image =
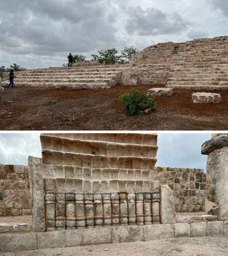
<path id="1" fill-rule="evenodd" d="M 228 255 L 228 238 L 173 238 L 148 242 L 104 244 L 31 251 L 7 252 L 1 256 L 220 256 Z"/>

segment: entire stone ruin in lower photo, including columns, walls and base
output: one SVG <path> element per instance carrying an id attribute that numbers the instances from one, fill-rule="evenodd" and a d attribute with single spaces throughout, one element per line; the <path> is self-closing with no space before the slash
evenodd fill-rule
<path id="1" fill-rule="evenodd" d="M 41 134 L 41 158 L 0 165 L 0 252 L 228 236 L 228 134 L 207 172 L 156 166 L 158 137 Z"/>

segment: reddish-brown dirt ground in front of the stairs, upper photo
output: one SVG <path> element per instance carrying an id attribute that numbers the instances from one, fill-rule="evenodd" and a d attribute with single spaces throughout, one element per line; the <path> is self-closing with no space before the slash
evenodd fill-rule
<path id="1" fill-rule="evenodd" d="M 0 92 L 0 130 L 228 130 L 228 91 L 217 104 L 193 104 L 193 91 L 175 91 L 155 98 L 153 113 L 129 117 L 118 96 L 137 88 L 110 90 L 6 89 Z M 216 91 L 215 91 L 216 92 Z"/>

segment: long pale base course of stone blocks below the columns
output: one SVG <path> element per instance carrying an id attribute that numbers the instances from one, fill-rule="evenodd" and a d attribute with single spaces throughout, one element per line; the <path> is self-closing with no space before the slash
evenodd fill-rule
<path id="1" fill-rule="evenodd" d="M 38 233 L 0 234 L 0 252 L 152 241 L 174 237 L 227 236 L 227 222 L 193 222 L 190 224 L 176 223 L 150 226 L 132 225 Z"/>

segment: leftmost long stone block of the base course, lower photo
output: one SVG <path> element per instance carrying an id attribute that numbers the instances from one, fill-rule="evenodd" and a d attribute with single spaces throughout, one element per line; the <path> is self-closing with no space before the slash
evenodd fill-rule
<path id="1" fill-rule="evenodd" d="M 35 250 L 37 249 L 37 234 L 1 234 L 0 252 Z"/>

